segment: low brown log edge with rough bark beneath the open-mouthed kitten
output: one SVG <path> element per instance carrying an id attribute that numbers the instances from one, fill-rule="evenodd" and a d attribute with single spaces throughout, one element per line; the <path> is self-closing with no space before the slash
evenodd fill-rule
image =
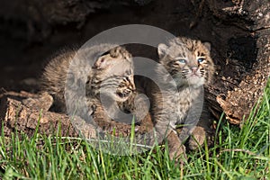
<path id="1" fill-rule="evenodd" d="M 47 136 L 55 135 L 57 130 L 60 130 L 58 135 L 69 137 L 83 135 L 85 139 L 96 139 L 100 132 L 121 137 L 130 136 L 129 124 L 104 120 L 106 114 L 103 114 L 102 110 L 96 110 L 97 112 L 94 113 L 96 123 L 94 126 L 77 116 L 70 117 L 63 113 L 49 112 L 52 103 L 53 99 L 47 93 L 6 92 L 0 94 L 0 119 L 2 120 L 0 129 L 4 129 L 4 136 L 10 137 L 11 133 L 22 131 L 31 137 L 36 130 Z M 152 128 L 149 113 L 139 126 L 135 126 L 136 132 L 139 133 L 145 133 Z"/>

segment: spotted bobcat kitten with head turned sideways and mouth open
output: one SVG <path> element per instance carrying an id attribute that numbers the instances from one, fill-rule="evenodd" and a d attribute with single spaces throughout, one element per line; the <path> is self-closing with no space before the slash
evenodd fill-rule
<path id="1" fill-rule="evenodd" d="M 103 105 L 103 97 L 113 116 L 115 105 L 121 108 L 135 90 L 132 58 L 126 49 L 113 44 L 65 50 L 49 62 L 42 84 L 58 112 L 75 112 L 88 120 L 95 109 L 103 110 L 96 108 Z M 104 118 L 111 121 L 109 116 Z"/>

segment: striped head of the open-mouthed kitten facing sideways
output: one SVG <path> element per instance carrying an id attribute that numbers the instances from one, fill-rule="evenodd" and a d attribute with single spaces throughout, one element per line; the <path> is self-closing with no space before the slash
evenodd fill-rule
<path id="1" fill-rule="evenodd" d="M 94 63 L 92 85 L 98 93 L 106 94 L 117 102 L 129 99 L 135 90 L 134 67 L 130 53 L 116 47 L 103 53 Z"/>

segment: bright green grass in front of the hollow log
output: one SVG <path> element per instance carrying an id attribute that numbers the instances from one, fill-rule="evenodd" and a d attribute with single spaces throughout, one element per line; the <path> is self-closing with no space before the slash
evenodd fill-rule
<path id="1" fill-rule="evenodd" d="M 218 122 L 214 147 L 189 153 L 181 163 L 169 160 L 164 147 L 115 156 L 92 148 L 84 139 L 35 133 L 0 137 L 3 179 L 267 179 L 270 163 L 270 82 L 257 114 L 242 129 Z M 3 132 L 2 132 L 3 134 Z"/>

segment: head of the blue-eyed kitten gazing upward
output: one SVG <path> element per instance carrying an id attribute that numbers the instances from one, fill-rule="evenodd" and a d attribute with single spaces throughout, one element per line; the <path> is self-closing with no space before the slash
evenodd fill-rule
<path id="1" fill-rule="evenodd" d="M 160 63 L 175 79 L 176 85 L 206 85 L 211 82 L 214 65 L 208 42 L 187 38 L 175 38 L 169 45 L 157 47 Z"/>

